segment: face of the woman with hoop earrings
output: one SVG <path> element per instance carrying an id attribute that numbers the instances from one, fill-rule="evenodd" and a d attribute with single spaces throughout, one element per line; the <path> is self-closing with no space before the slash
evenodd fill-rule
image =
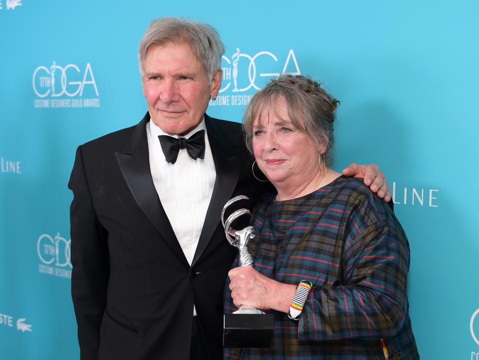
<path id="1" fill-rule="evenodd" d="M 317 176 L 323 146 L 292 124 L 283 97 L 254 119 L 252 130 L 254 158 L 278 190 L 301 186 Z"/>

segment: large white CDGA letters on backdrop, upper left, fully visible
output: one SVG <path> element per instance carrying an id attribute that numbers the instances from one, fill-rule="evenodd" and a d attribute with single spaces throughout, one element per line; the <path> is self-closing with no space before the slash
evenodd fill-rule
<path id="1" fill-rule="evenodd" d="M 76 81 L 70 81 L 71 79 Z M 75 64 L 62 67 L 58 66 L 55 61 L 49 68 L 38 66 L 33 72 L 33 91 L 40 98 L 47 95 L 58 97 L 63 94 L 73 97 L 78 93 L 79 96 L 82 96 L 85 85 L 88 84 L 93 86 L 95 94 L 98 96 L 98 88 L 89 62 L 86 64 L 83 75 Z"/>

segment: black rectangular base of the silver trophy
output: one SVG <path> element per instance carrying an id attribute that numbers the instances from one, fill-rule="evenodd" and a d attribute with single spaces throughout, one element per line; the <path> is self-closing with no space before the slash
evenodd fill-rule
<path id="1" fill-rule="evenodd" d="M 273 314 L 225 314 L 225 348 L 269 348 L 273 336 Z"/>

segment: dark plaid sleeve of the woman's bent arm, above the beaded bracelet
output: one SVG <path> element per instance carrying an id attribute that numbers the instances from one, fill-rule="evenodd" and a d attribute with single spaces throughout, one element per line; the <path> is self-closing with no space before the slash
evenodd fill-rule
<path id="1" fill-rule="evenodd" d="M 409 319 L 409 244 L 394 214 L 379 211 L 351 213 L 343 279 L 313 287 L 299 321 L 300 341 L 389 338 Z"/>

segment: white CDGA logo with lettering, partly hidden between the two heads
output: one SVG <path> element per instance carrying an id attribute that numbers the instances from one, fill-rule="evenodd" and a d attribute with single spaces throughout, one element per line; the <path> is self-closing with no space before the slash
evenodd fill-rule
<path id="1" fill-rule="evenodd" d="M 216 100 L 210 100 L 210 106 L 247 105 L 254 92 L 266 85 L 271 78 L 284 73 L 301 74 L 292 49 L 281 61 L 269 51 L 260 51 L 250 56 L 242 53 L 239 48 L 231 59 L 225 55 L 222 59 L 222 87 Z"/>

